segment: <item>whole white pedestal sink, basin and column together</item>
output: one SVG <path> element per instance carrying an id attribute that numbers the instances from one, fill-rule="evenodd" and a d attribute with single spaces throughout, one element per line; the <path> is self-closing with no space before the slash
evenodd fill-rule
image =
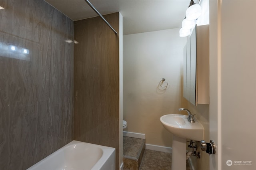
<path id="1" fill-rule="evenodd" d="M 186 170 L 186 139 L 203 140 L 204 127 L 200 122 L 190 123 L 186 115 L 170 114 L 160 117 L 172 137 L 172 170 Z"/>

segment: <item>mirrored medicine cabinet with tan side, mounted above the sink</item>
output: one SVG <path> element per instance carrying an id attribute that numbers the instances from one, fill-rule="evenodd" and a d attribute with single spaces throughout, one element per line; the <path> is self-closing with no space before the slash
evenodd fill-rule
<path id="1" fill-rule="evenodd" d="M 194 28 L 184 47 L 183 97 L 209 104 L 209 25 Z"/>

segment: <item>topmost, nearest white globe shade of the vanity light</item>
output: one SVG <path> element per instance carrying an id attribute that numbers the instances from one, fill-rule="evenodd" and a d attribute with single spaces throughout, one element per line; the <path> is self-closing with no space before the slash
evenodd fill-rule
<path id="1" fill-rule="evenodd" d="M 201 6 L 196 4 L 194 0 L 191 0 L 188 9 L 186 10 L 186 18 L 188 20 L 196 20 L 201 14 Z"/>

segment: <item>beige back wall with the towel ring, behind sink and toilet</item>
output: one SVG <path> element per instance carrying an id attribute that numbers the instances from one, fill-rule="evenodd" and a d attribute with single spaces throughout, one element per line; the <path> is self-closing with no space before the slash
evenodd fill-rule
<path id="1" fill-rule="evenodd" d="M 172 146 L 172 134 L 160 123 L 184 107 L 183 47 L 179 29 L 124 36 L 124 120 L 126 131 L 146 134 L 146 143 Z M 159 87 L 165 78 L 167 89 Z M 165 85 L 165 83 L 164 83 Z"/>

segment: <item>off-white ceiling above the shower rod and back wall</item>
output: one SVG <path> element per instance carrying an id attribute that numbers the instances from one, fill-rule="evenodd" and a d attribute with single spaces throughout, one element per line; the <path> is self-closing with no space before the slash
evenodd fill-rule
<path id="1" fill-rule="evenodd" d="M 77 21 L 98 16 L 84 0 L 45 0 Z M 190 0 L 90 0 L 100 14 L 120 12 L 123 34 L 180 28 Z"/>

